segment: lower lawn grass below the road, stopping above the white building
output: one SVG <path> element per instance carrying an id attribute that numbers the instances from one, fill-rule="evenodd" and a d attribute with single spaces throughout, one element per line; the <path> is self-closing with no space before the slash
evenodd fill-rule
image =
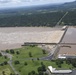
<path id="1" fill-rule="evenodd" d="M 24 65 L 24 62 L 27 62 L 27 65 Z M 55 62 L 51 62 L 51 61 L 41 61 L 41 60 L 25 60 L 25 61 L 20 61 L 20 64 L 18 65 L 14 65 L 14 67 L 16 68 L 17 71 L 21 71 L 20 74 L 21 75 L 28 75 L 29 72 L 31 71 L 35 71 L 36 73 L 38 73 L 37 68 L 41 66 L 41 62 L 43 62 L 44 65 L 46 65 L 46 67 L 48 67 L 49 65 L 55 65 Z"/>

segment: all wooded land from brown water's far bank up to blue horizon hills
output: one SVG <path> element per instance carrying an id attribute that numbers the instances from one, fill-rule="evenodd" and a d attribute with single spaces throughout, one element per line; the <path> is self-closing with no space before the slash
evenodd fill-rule
<path id="1" fill-rule="evenodd" d="M 62 5 L 0 10 L 0 27 L 76 25 L 76 1 Z"/>

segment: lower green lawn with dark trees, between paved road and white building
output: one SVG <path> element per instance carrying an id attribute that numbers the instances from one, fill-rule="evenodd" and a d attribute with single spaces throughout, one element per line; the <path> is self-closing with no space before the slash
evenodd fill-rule
<path id="1" fill-rule="evenodd" d="M 60 66 L 59 66 L 59 64 L 56 64 L 56 61 L 22 60 L 22 61 L 19 61 L 20 62 L 19 64 L 15 64 L 13 62 L 13 65 L 16 68 L 16 70 L 19 71 L 19 73 L 21 75 L 29 75 L 30 73 L 32 74 L 32 71 L 35 72 L 35 75 L 40 75 L 41 74 L 40 72 L 42 72 L 42 73 L 46 72 L 48 66 L 53 66 L 54 68 L 57 68 L 57 69 L 61 69 L 61 68 L 62 69 L 71 69 L 73 67 L 71 64 L 68 65 L 65 61 L 63 61 L 63 63 L 60 64 Z M 25 62 L 27 64 L 25 64 Z M 64 66 L 64 65 L 66 65 L 66 66 Z M 42 74 L 42 75 L 45 75 L 45 74 Z"/>

